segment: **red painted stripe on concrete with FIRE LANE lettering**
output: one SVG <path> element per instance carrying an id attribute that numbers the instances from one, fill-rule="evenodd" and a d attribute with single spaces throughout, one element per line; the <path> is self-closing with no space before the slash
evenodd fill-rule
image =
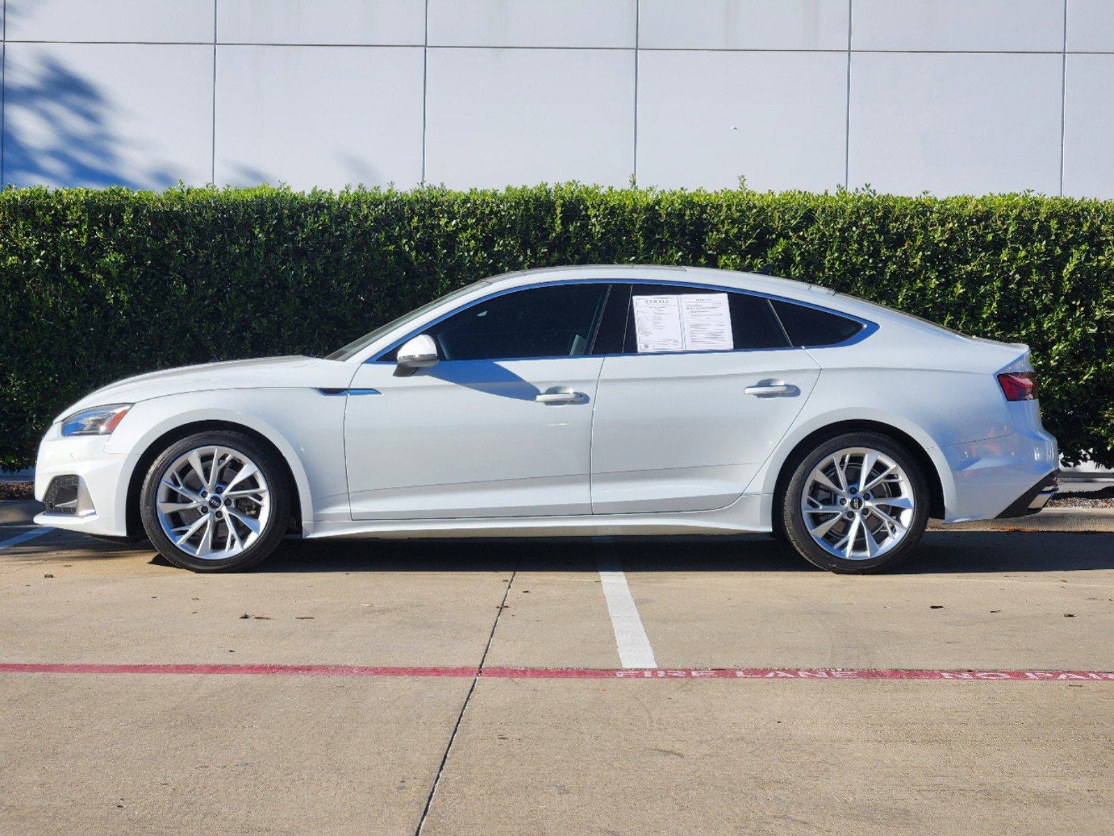
<path id="1" fill-rule="evenodd" d="M 883 679 L 1114 682 L 1114 671 L 866 670 L 837 668 L 408 668 L 360 664 L 61 664 L 0 662 L 0 673 L 163 673 L 240 677 L 451 677 L 485 679 Z"/>

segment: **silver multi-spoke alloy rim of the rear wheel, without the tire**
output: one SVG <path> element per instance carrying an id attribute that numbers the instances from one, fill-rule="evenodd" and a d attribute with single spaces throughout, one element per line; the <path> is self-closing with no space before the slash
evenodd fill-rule
<path id="1" fill-rule="evenodd" d="M 897 461 L 869 447 L 846 447 L 812 468 L 801 513 L 829 554 L 868 561 L 891 551 L 912 525 L 912 483 Z"/>

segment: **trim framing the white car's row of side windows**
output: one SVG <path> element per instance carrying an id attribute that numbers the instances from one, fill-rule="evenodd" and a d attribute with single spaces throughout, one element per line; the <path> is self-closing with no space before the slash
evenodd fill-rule
<path id="1" fill-rule="evenodd" d="M 821 348 L 828 349 L 828 348 L 843 348 L 846 346 L 853 346 L 857 342 L 862 342 L 863 340 L 866 340 L 868 337 L 870 337 L 871 334 L 873 334 L 878 330 L 878 323 L 877 322 L 872 322 L 871 320 L 863 319 L 862 317 L 858 317 L 858 315 L 856 315 L 853 313 L 846 313 L 844 311 L 834 311 L 831 308 L 824 308 L 821 304 L 813 304 L 812 302 L 805 302 L 805 301 L 800 300 L 800 299 L 791 299 L 789 297 L 780 297 L 780 295 L 776 295 L 774 293 L 763 293 L 762 291 L 756 291 L 756 290 L 745 290 L 743 288 L 731 288 L 731 286 L 727 286 L 727 285 L 722 285 L 722 284 L 704 284 L 703 282 L 678 282 L 676 280 L 666 280 L 666 279 L 646 279 L 646 278 L 642 278 L 642 276 L 638 276 L 638 278 L 635 278 L 635 276 L 629 276 L 629 278 L 628 276 L 622 276 L 622 278 L 616 278 L 616 279 L 573 279 L 573 280 L 567 280 L 566 279 L 566 280 L 556 280 L 556 281 L 548 281 L 548 282 L 537 282 L 535 284 L 518 284 L 518 285 L 515 285 L 514 288 L 505 288 L 505 289 L 498 290 L 498 291 L 496 291 L 494 293 L 489 293 L 486 297 L 480 297 L 479 299 L 476 299 L 476 300 L 473 300 L 471 302 L 467 302 L 467 303 L 460 305 L 459 308 L 455 308 L 453 310 L 448 311 L 448 312 L 441 314 L 440 317 L 436 317 L 436 318 L 431 319 L 429 322 L 426 322 L 424 324 L 422 324 L 421 327 L 414 329 L 413 331 L 408 332 L 404 337 L 401 337 L 400 339 L 394 340 L 387 348 L 382 349 L 381 351 L 375 352 L 375 354 L 372 358 L 370 358 L 369 360 L 365 360 L 364 362 L 393 363 L 394 362 L 393 360 L 389 360 L 389 359 L 384 359 L 384 358 L 387 357 L 387 354 L 390 354 L 392 351 L 394 351 L 397 348 L 399 348 L 407 340 L 410 340 L 410 339 L 412 339 L 414 337 L 418 337 L 419 334 L 424 333 L 428 329 L 432 328 L 433 325 L 438 324 L 439 322 L 443 322 L 444 320 L 449 319 L 449 317 L 453 317 L 457 313 L 461 313 L 462 311 L 467 311 L 469 308 L 473 308 L 473 307 L 476 307 L 478 304 L 482 304 L 483 302 L 488 302 L 488 301 L 490 301 L 492 299 L 496 299 L 497 297 L 505 297 L 505 295 L 507 295 L 509 293 L 515 293 L 517 291 L 522 291 L 522 290 L 535 290 L 535 289 L 538 289 L 538 288 L 551 288 L 551 286 L 555 286 L 555 285 L 568 285 L 568 284 L 608 284 L 608 285 L 610 285 L 610 284 L 657 284 L 657 285 L 661 285 L 663 288 L 693 288 L 693 289 L 696 289 L 696 290 L 707 290 L 707 291 L 715 292 L 715 293 L 743 293 L 743 294 L 749 295 L 749 297 L 756 297 L 759 299 L 765 299 L 765 300 L 769 300 L 769 301 L 779 301 L 779 302 L 785 302 L 788 304 L 799 304 L 802 308 L 812 308 L 814 310 L 821 311 L 823 313 L 831 314 L 833 317 L 842 317 L 843 319 L 851 320 L 852 322 L 858 322 L 859 324 L 862 325 L 862 328 L 859 329 L 859 331 L 857 333 L 851 334 L 849 338 L 847 338 L 842 342 L 833 342 L 833 343 L 827 344 L 827 346 L 794 346 L 794 344 L 792 344 L 792 341 L 789 339 L 789 333 L 785 332 L 784 325 L 781 324 L 781 318 L 778 317 L 778 310 L 776 310 L 776 308 L 774 308 L 773 305 L 770 305 L 770 309 L 773 312 L 773 315 L 774 315 L 774 319 L 778 322 L 778 325 L 782 329 L 782 332 L 785 333 L 785 340 L 786 340 L 786 342 L 790 343 L 788 346 L 779 346 L 779 347 L 774 347 L 774 348 L 724 349 L 724 350 L 720 350 L 720 351 L 655 351 L 655 352 L 646 352 L 646 353 L 643 353 L 643 354 L 631 354 L 631 353 L 618 352 L 618 353 L 609 353 L 609 354 L 585 353 L 585 354 L 551 354 L 551 356 L 548 356 L 548 357 L 502 357 L 502 358 L 491 358 L 489 360 L 442 360 L 442 362 L 510 362 L 510 361 L 520 361 L 520 360 L 577 360 L 577 359 L 593 358 L 593 357 L 662 357 L 662 356 L 668 356 L 668 354 L 729 354 L 729 353 L 739 352 L 739 351 L 802 351 L 804 349 L 821 349 Z M 607 298 L 604 300 L 604 304 L 603 304 L 603 307 L 600 309 L 599 317 L 598 317 L 598 319 L 597 319 L 597 321 L 595 323 L 596 333 L 593 334 L 592 346 L 589 347 L 589 351 L 590 351 L 592 348 L 595 347 L 595 341 L 596 341 L 596 338 L 598 337 L 599 325 L 603 322 L 603 315 L 604 315 L 604 312 L 607 309 L 607 303 L 609 301 L 610 301 L 610 291 L 608 290 Z M 629 303 L 627 304 L 627 320 L 629 320 Z M 625 331 L 626 328 L 629 328 L 629 322 L 627 322 L 627 324 L 624 325 L 624 331 Z"/>

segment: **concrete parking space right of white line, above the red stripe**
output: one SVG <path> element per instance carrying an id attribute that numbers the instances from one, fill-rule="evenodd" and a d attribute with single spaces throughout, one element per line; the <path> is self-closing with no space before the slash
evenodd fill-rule
<path id="1" fill-rule="evenodd" d="M 929 532 L 871 576 L 741 546 L 620 547 L 659 665 L 1114 670 L 1114 534 Z"/>

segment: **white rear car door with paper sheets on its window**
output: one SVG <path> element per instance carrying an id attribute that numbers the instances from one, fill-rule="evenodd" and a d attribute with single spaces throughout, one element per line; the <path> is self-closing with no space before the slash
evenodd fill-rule
<path id="1" fill-rule="evenodd" d="M 629 286 L 626 307 L 623 351 L 605 358 L 596 392 L 593 512 L 732 504 L 801 411 L 820 367 L 790 346 L 762 297 L 643 284 Z"/>

